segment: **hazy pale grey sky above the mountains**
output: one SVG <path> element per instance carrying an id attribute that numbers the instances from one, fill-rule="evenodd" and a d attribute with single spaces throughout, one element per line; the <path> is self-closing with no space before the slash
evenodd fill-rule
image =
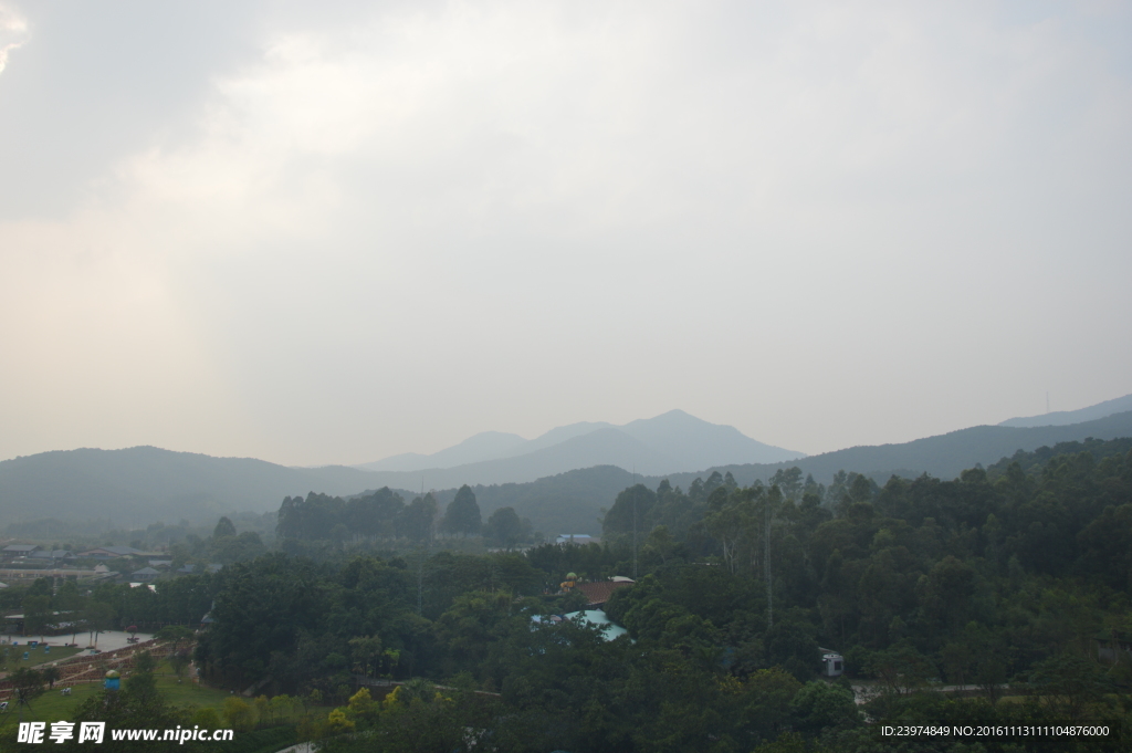
<path id="1" fill-rule="evenodd" d="M 0 457 L 1132 392 L 1129 2 L 0 0 Z"/>

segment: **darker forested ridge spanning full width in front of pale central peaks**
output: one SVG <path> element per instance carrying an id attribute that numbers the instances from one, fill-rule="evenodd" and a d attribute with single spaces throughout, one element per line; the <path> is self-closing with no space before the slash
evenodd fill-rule
<path id="1" fill-rule="evenodd" d="M 1132 412 L 1072 426 L 1011 428 L 979 426 L 899 445 L 851 447 L 789 463 L 706 468 L 696 473 L 645 477 L 655 487 L 662 478 L 688 488 L 713 470 L 730 472 L 740 485 L 765 480 L 778 470 L 797 465 L 818 482 L 827 484 L 840 470 L 857 470 L 883 482 L 892 473 L 917 477 L 929 473 L 955 478 L 964 468 L 988 465 L 1018 450 L 1037 450 L 1058 442 L 1087 437 L 1110 439 L 1132 436 Z M 484 513 L 514 507 L 544 533 L 597 533 L 601 510 L 632 482 L 632 474 L 578 455 L 578 469 L 548 471 L 530 484 L 475 486 L 448 469 L 451 478 L 426 477 L 428 488 L 447 488 L 445 504 L 455 488 L 470 484 Z M 500 462 L 508 462 L 507 460 Z M 593 468 L 588 468 L 593 467 Z M 393 478 L 391 478 L 391 476 Z M 214 521 L 233 511 L 267 512 L 292 495 L 318 491 L 352 495 L 388 486 L 420 489 L 420 474 L 372 473 L 344 467 L 299 469 L 248 457 L 211 457 L 157 447 L 129 450 L 74 450 L 49 452 L 0 462 L 0 527 L 19 521 L 59 517 L 111 520 L 119 525 L 144 527 L 157 521 Z M 411 499 L 414 491 L 403 491 Z"/>

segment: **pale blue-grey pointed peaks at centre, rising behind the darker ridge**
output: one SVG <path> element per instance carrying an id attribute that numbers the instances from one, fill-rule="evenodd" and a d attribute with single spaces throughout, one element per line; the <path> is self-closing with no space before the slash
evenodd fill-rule
<path id="1" fill-rule="evenodd" d="M 719 463 L 778 463 L 799 457 L 805 455 L 752 439 L 735 427 L 674 410 L 624 426 L 603 421 L 559 426 L 535 439 L 483 431 L 431 455 L 405 453 L 354 468 L 418 476 L 426 471 L 428 478 L 461 469 L 462 477 L 472 479 L 469 482 L 501 484 L 599 464 L 674 473 Z"/>

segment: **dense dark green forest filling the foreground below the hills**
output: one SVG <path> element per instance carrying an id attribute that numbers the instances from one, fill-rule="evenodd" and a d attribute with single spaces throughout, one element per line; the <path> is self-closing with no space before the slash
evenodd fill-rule
<path id="1" fill-rule="evenodd" d="M 466 487 L 446 505 L 387 489 L 289 497 L 276 549 L 249 545 L 217 573 L 0 598 L 108 625 L 208 613 L 205 681 L 335 707 L 298 728 L 329 752 L 1127 750 L 1132 656 L 1098 648 L 1132 640 L 1132 439 L 1020 452 L 954 480 L 663 480 L 625 488 L 602 525 L 600 545 L 524 549 L 515 512 L 481 521 Z M 469 548 L 481 533 L 496 550 Z M 635 576 L 606 605 L 627 636 L 532 621 L 585 605 L 559 592 L 567 573 Z M 846 676 L 820 676 L 820 647 Z M 880 736 L 1097 720 L 1113 735 Z"/>

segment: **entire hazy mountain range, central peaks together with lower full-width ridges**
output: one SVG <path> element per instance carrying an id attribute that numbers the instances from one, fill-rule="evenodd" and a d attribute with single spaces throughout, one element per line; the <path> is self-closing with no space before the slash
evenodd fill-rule
<path id="1" fill-rule="evenodd" d="M 949 479 L 976 463 L 988 465 L 1018 450 L 1089 437 L 1132 437 L 1132 411 L 1067 426 L 978 426 L 903 444 L 850 447 L 772 463 L 706 462 L 700 469 L 681 472 L 666 470 L 657 457 L 671 456 L 695 442 L 707 448 L 703 450 L 705 454 L 711 452 L 712 442 L 724 451 L 741 447 L 744 440 L 766 445 L 743 437 L 731 427 L 698 421 L 678 411 L 624 427 L 583 425 L 588 430 L 581 431 L 577 426 L 556 429 L 557 435 L 548 433 L 554 436 L 544 446 L 521 455 L 423 473 L 341 465 L 298 469 L 156 447 L 41 453 L 0 462 L 0 527 L 48 517 L 106 521 L 131 528 L 181 519 L 209 522 L 230 512 L 275 511 L 289 495 L 320 491 L 345 496 L 384 486 L 400 489 L 411 499 L 423 476 L 426 488 L 441 490 L 441 503 L 451 499 L 458 486 L 471 485 L 484 517 L 509 505 L 548 533 L 598 533 L 601 508 L 609 507 L 617 493 L 632 484 L 629 471 L 634 464 L 636 478 L 652 487 L 661 478 L 669 478 L 674 485 L 687 488 L 697 476 L 706 478 L 713 470 L 731 472 L 739 484 L 748 485 L 790 465 L 813 473 L 821 482 L 827 482 L 842 469 L 880 481 L 892 473 L 915 477 L 925 472 Z M 680 444 L 681 433 L 691 442 Z"/>

